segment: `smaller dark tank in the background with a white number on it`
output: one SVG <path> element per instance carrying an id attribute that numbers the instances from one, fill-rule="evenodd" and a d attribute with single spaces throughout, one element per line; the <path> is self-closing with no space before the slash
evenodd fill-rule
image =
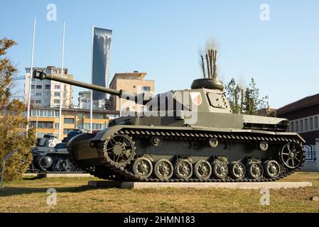
<path id="1" fill-rule="evenodd" d="M 53 134 L 45 134 L 43 138 L 38 138 L 36 147 L 30 152 L 33 155 L 33 161 L 28 167 L 28 172 L 41 173 L 77 173 L 82 172 L 75 167 L 68 158 L 67 142 L 74 137 L 84 133 L 85 131 L 75 130 L 67 134 L 67 137 L 58 143 L 58 139 Z"/>

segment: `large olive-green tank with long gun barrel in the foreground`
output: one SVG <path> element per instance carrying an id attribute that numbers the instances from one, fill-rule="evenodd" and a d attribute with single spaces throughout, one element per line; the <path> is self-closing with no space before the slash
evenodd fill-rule
<path id="1" fill-rule="evenodd" d="M 94 167 L 102 179 L 144 182 L 268 182 L 301 170 L 305 140 L 288 120 L 232 114 L 218 79 L 195 79 L 190 89 L 132 94 L 34 71 L 50 79 L 147 106 L 121 116 L 96 135 L 67 143 L 72 163 Z"/>

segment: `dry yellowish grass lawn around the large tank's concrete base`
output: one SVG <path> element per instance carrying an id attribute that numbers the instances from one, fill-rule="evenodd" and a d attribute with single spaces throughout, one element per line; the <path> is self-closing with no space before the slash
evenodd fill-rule
<path id="1" fill-rule="evenodd" d="M 319 173 L 299 172 L 285 182 L 312 182 L 313 187 L 271 189 L 270 205 L 261 206 L 259 190 L 242 189 L 94 189 L 85 178 L 25 178 L 4 182 L 0 212 L 319 212 Z M 48 206 L 48 188 L 57 205 Z"/>

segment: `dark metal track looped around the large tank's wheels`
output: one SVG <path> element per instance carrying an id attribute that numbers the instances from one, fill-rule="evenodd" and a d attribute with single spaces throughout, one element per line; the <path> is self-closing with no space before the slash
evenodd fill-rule
<path id="1" fill-rule="evenodd" d="M 302 145 L 302 142 L 297 138 L 288 138 L 286 135 L 232 135 L 231 133 L 203 133 L 203 132 L 180 132 L 180 131 L 156 131 L 156 130 L 121 130 L 113 135 L 129 135 L 130 137 L 136 138 L 149 138 L 152 135 L 161 135 L 166 140 L 206 140 L 208 138 L 218 138 L 222 142 L 232 142 L 232 143 L 250 143 L 252 141 L 267 141 L 267 143 L 282 143 L 282 142 L 294 142 Z M 104 167 L 112 170 L 114 175 L 105 175 L 105 172 L 95 172 L 93 175 L 95 177 L 103 178 L 103 179 L 126 179 L 134 182 L 274 182 L 279 179 L 283 179 L 288 175 L 293 174 L 294 172 L 301 170 L 306 162 L 306 154 L 303 150 L 303 160 L 301 160 L 301 165 L 295 170 L 283 170 L 281 167 L 281 173 L 276 178 L 265 178 L 261 177 L 259 179 L 249 179 L 247 177 L 243 177 L 242 179 L 232 179 L 230 177 L 225 177 L 225 179 L 157 179 L 153 177 L 148 177 L 146 179 L 139 177 L 138 175 L 134 175 L 131 170 L 126 169 L 125 167 L 119 167 L 114 165 L 112 162 L 109 162 L 106 157 L 104 157 L 104 143 L 99 143 L 97 145 L 97 153 L 99 156 L 99 160 L 104 164 Z"/>

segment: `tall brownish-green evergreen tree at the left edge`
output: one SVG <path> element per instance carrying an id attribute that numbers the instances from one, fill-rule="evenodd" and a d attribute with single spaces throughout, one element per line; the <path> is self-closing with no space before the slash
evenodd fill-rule
<path id="1" fill-rule="evenodd" d="M 12 77 L 16 68 L 6 55 L 6 51 L 16 42 L 3 38 L 0 40 L 0 167 L 5 155 L 16 153 L 6 161 L 5 179 L 19 179 L 32 161 L 30 148 L 35 143 L 35 133 L 26 132 L 26 105 L 18 99 L 11 99 Z"/>

